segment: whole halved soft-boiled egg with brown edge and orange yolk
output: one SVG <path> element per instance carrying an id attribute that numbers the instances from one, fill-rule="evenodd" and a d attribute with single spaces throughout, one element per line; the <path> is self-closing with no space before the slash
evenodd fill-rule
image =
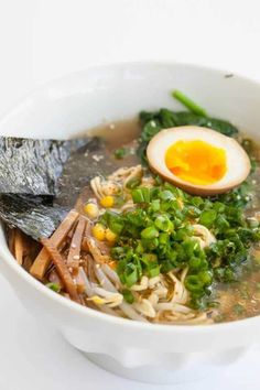
<path id="1" fill-rule="evenodd" d="M 238 186 L 251 167 L 235 139 L 196 126 L 160 131 L 149 142 L 147 156 L 150 167 L 164 180 L 204 196 Z"/>

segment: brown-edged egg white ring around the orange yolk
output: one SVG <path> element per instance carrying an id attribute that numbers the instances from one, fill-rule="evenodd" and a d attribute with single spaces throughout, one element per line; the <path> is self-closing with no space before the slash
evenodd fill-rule
<path id="1" fill-rule="evenodd" d="M 165 163 L 167 149 L 177 141 L 201 140 L 226 152 L 227 172 L 213 184 L 193 184 L 174 175 Z M 242 183 L 250 173 L 250 160 L 242 147 L 232 138 L 197 126 L 183 126 L 160 131 L 149 142 L 147 156 L 150 167 L 176 186 L 197 195 L 225 193 Z"/>

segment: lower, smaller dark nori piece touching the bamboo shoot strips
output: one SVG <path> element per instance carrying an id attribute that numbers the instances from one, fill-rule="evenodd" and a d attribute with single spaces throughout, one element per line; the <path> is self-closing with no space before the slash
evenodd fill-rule
<path id="1" fill-rule="evenodd" d="M 53 207 L 52 201 L 44 196 L 0 195 L 0 218 L 35 240 L 50 237 L 67 213 L 66 207 Z"/>

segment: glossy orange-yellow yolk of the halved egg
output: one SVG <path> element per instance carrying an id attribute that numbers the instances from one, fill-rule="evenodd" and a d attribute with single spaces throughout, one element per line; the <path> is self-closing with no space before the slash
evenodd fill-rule
<path id="1" fill-rule="evenodd" d="M 167 169 L 192 184 L 213 184 L 227 172 L 226 151 L 210 143 L 193 140 L 177 141 L 165 153 Z"/>

